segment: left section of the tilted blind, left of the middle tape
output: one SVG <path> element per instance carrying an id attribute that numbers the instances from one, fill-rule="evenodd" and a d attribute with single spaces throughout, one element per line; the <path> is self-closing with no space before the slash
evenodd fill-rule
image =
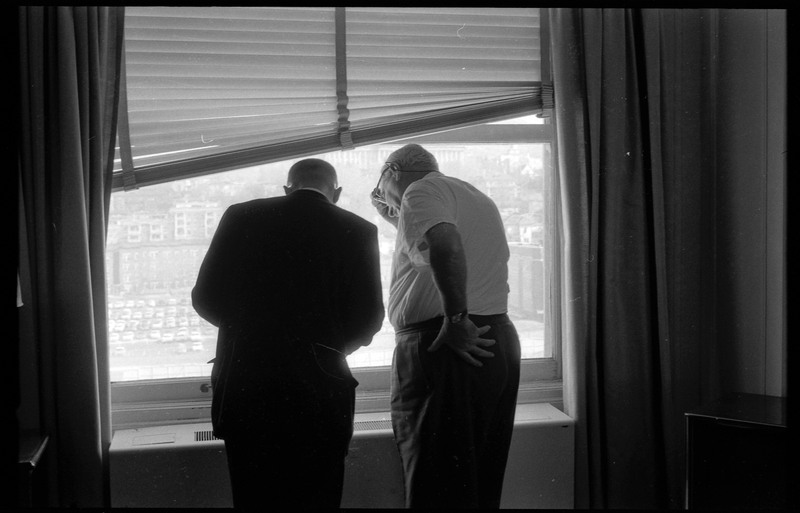
<path id="1" fill-rule="evenodd" d="M 125 37 L 137 167 L 335 124 L 332 8 L 129 7 Z"/>

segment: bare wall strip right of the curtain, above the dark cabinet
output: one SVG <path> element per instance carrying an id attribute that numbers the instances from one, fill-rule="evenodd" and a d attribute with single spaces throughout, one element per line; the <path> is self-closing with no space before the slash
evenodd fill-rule
<path id="1" fill-rule="evenodd" d="M 786 395 L 786 13 L 719 11 L 716 322 L 721 392 Z"/>

